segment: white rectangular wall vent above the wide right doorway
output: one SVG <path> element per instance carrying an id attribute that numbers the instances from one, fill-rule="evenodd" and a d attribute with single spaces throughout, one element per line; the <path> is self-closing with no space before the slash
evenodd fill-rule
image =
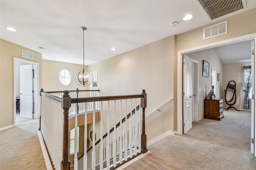
<path id="1" fill-rule="evenodd" d="M 228 33 L 228 21 L 224 21 L 219 24 L 215 24 L 213 26 L 206 27 L 203 30 L 204 30 L 203 40 L 212 38 L 212 37 L 216 37 L 216 36 L 220 36 L 223 34 L 227 34 Z"/>

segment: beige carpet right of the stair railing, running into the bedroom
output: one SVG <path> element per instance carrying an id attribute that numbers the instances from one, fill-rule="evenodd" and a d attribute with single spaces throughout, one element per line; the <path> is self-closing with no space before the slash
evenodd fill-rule
<path id="1" fill-rule="evenodd" d="M 250 112 L 233 109 L 221 121 L 193 122 L 186 134 L 148 146 L 150 153 L 124 170 L 256 170 L 250 125 Z"/>

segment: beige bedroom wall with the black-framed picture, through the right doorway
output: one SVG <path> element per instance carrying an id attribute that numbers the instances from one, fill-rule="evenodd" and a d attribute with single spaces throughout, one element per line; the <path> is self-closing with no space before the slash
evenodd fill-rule
<path id="1" fill-rule="evenodd" d="M 188 57 L 198 61 L 198 81 L 200 82 L 198 85 L 198 88 L 200 88 L 200 91 L 198 91 L 199 94 L 199 103 L 198 103 L 198 112 L 199 112 L 199 119 L 204 118 L 204 99 L 212 89 L 211 84 L 211 68 L 214 68 L 217 73 L 222 73 L 222 63 L 220 62 L 220 59 L 214 49 L 206 49 L 202 51 L 196 51 L 193 53 L 186 54 Z M 208 63 L 210 63 L 209 66 L 209 77 L 202 76 L 202 69 L 203 69 L 203 60 L 206 60 Z M 216 87 L 214 87 L 214 93 L 216 95 L 216 98 L 221 98 L 221 79 L 220 81 L 216 81 Z"/>

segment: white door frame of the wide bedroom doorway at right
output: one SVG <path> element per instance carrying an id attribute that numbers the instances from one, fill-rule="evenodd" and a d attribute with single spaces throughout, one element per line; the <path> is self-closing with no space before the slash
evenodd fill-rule
<path id="1" fill-rule="evenodd" d="M 182 127 L 182 55 L 186 53 L 191 53 L 195 51 L 200 51 L 204 49 L 214 48 L 222 45 L 227 45 L 230 43 L 237 43 L 237 42 L 243 42 L 248 40 L 256 40 L 256 33 L 248 34 L 245 36 L 240 36 L 236 38 L 230 38 L 227 40 L 222 40 L 219 42 L 209 43 L 206 45 L 200 45 L 197 47 L 192 47 L 189 49 L 180 50 L 177 52 L 177 134 L 183 134 L 183 127 Z"/>

